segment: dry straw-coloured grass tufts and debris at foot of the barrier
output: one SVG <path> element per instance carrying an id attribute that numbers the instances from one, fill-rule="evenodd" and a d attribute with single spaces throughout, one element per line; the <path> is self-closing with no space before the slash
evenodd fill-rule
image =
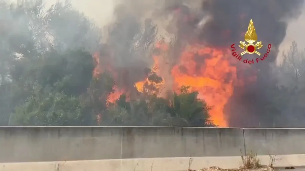
<path id="1" fill-rule="evenodd" d="M 252 151 L 246 156 L 241 155 L 242 158 L 242 166 L 237 169 L 222 169 L 220 167 L 209 167 L 203 168 L 201 170 L 191 170 L 188 169 L 187 171 L 274 171 L 273 169 L 273 162 L 274 157 L 270 155 L 270 163 L 269 166 L 264 166 L 260 164 L 260 160 L 257 159 L 257 154 L 253 154 Z M 190 166 L 188 166 L 190 168 Z"/>

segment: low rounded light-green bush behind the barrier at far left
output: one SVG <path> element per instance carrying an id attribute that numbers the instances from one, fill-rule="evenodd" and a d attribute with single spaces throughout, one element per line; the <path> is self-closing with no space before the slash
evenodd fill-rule
<path id="1" fill-rule="evenodd" d="M 67 96 L 51 87 L 33 85 L 32 95 L 16 106 L 12 125 L 84 126 L 91 122 L 79 97 Z"/>

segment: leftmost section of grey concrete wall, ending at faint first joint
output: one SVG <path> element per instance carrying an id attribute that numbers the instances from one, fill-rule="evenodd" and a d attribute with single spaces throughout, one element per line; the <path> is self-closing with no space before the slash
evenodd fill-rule
<path id="1" fill-rule="evenodd" d="M 0 127 L 0 162 L 120 159 L 120 127 Z"/>

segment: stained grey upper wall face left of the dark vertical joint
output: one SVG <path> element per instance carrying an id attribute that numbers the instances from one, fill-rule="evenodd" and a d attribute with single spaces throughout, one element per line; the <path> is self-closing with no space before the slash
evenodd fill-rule
<path id="1" fill-rule="evenodd" d="M 185 127 L 0 127 L 0 162 L 238 156 L 243 130 Z"/>

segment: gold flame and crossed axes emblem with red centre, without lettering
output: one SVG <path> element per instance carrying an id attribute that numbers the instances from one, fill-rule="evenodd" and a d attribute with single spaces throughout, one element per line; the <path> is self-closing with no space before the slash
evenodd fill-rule
<path id="1" fill-rule="evenodd" d="M 244 55 L 246 53 L 248 53 L 248 54 L 256 53 L 256 54 L 260 55 L 260 53 L 257 51 L 257 49 L 262 48 L 263 44 L 262 44 L 262 42 L 256 42 L 257 34 L 255 32 L 255 27 L 254 27 L 252 19 L 250 19 L 248 30 L 245 34 L 245 41 L 248 42 L 248 44 L 246 44 L 246 42 L 242 42 L 242 41 L 239 42 L 239 47 L 242 49 L 245 49 L 245 51 L 240 53 L 240 55 Z M 253 44 L 254 42 L 256 42 L 256 44 Z"/>

